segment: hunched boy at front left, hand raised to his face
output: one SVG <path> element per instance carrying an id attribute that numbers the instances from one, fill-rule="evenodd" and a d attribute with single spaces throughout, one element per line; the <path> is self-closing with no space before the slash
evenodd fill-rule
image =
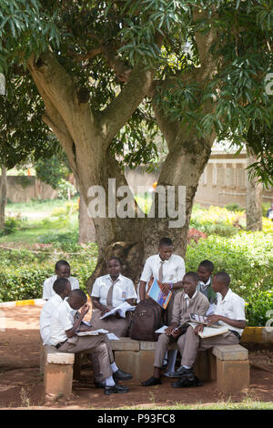
<path id="1" fill-rule="evenodd" d="M 132 379 L 132 375 L 118 369 L 113 352 L 106 344 L 106 334 L 96 336 L 78 336 L 81 321 L 89 311 L 86 304 L 86 293 L 83 290 L 72 290 L 68 299 L 57 306 L 51 318 L 50 344 L 59 352 L 86 352 L 96 358 L 102 373 L 105 394 L 128 392 L 128 388 L 117 384 L 118 380 Z M 75 320 L 75 311 L 81 308 L 80 316 Z M 92 328 L 88 330 L 94 330 Z M 85 329 L 86 331 L 86 329 Z"/>

